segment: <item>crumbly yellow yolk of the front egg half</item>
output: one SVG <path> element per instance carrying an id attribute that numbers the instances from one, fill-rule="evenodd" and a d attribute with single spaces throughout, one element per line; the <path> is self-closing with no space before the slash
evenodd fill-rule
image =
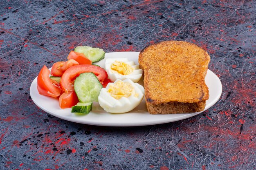
<path id="1" fill-rule="evenodd" d="M 130 83 L 122 81 L 111 84 L 108 88 L 108 93 L 110 93 L 110 95 L 115 99 L 130 97 L 130 95 L 134 95 L 135 97 L 139 96 L 138 93 L 135 93 L 135 90 Z"/>

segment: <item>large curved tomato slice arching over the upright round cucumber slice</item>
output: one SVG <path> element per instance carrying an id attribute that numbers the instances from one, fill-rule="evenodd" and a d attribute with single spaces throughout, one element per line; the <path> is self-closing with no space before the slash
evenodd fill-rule
<path id="1" fill-rule="evenodd" d="M 99 80 L 103 80 L 108 77 L 107 72 L 99 67 L 89 64 L 82 64 L 77 66 L 72 66 L 68 68 L 61 77 L 61 88 L 63 91 L 74 91 L 74 80 L 81 73 L 92 72 L 94 73 Z"/>

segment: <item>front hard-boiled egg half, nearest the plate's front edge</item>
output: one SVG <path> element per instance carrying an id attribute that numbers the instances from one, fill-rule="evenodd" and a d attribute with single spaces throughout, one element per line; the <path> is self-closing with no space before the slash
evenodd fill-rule
<path id="1" fill-rule="evenodd" d="M 99 105 L 109 113 L 126 113 L 138 106 L 144 97 L 144 88 L 130 79 L 117 79 L 102 88 Z"/>

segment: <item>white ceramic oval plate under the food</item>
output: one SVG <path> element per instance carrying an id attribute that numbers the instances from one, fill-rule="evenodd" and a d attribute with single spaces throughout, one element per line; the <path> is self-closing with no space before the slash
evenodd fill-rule
<path id="1" fill-rule="evenodd" d="M 138 55 L 139 52 L 106 53 L 105 59 L 127 57 L 129 60 L 133 60 L 136 64 L 138 64 Z M 105 59 L 95 64 L 104 68 Z M 213 106 L 213 104 L 218 101 L 222 92 L 222 85 L 220 79 L 212 71 L 208 70 L 205 81 L 207 86 L 209 87 L 210 97 L 206 102 L 206 107 L 204 111 L 209 109 L 211 106 Z M 128 113 L 107 113 L 99 106 L 97 102 L 94 102 L 92 111 L 88 115 L 79 116 L 71 113 L 71 108 L 61 109 L 58 106 L 58 99 L 54 97 L 40 95 L 37 91 L 36 83 L 37 77 L 31 84 L 30 95 L 34 103 L 39 108 L 58 118 L 81 124 L 98 126 L 144 126 L 178 121 L 201 113 L 196 112 L 186 114 L 150 115 L 146 108 L 145 99 L 143 99 L 139 106 L 137 106 L 135 109 Z M 143 85 L 143 78 L 141 78 L 139 84 Z"/>

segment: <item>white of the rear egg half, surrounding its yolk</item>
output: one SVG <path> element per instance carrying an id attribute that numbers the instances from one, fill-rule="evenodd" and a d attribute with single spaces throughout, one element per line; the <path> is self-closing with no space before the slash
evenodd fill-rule
<path id="1" fill-rule="evenodd" d="M 120 61 L 124 62 L 134 68 L 132 73 L 129 75 L 121 75 L 119 73 L 113 73 L 111 69 L 111 64 L 114 63 L 115 61 Z M 142 70 L 139 69 L 139 65 L 136 65 L 134 61 L 129 61 L 127 58 L 107 58 L 105 62 L 105 68 L 106 72 L 108 73 L 108 77 L 112 82 L 115 82 L 117 79 L 131 79 L 132 82 L 139 82 L 139 79 L 141 79 L 142 76 Z"/>

